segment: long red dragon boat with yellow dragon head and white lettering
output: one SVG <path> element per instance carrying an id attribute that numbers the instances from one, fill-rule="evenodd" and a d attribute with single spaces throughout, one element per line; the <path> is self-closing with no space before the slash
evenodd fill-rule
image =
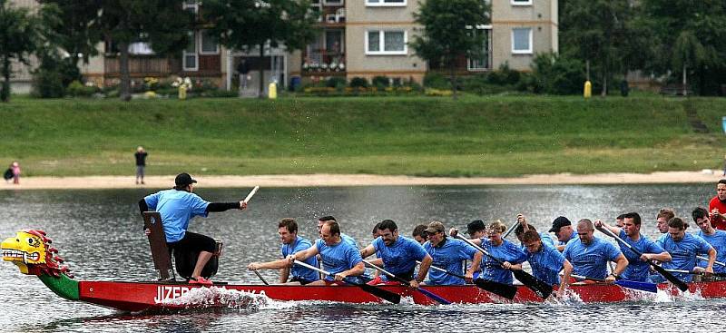
<path id="1" fill-rule="evenodd" d="M 200 286 L 185 281 L 90 281 L 74 279 L 70 269 L 63 265 L 51 240 L 42 230 L 19 231 L 15 237 L 3 241 L 3 260 L 11 261 L 26 275 L 35 275 L 58 296 L 83 301 L 122 311 L 148 311 L 163 309 L 229 308 L 259 305 L 267 299 L 280 301 L 317 300 L 346 303 L 386 303 L 374 293 L 359 286 L 289 286 L 231 284 L 217 282 L 213 286 Z M 378 289 L 397 294 L 408 303 L 435 305 L 437 301 L 417 289 L 405 286 L 381 286 Z M 475 285 L 425 286 L 452 303 L 539 303 L 534 291 L 517 286 L 514 299 L 505 299 L 479 289 Z M 658 295 L 679 297 L 685 294 L 698 298 L 726 297 L 726 281 L 690 283 L 686 293 L 671 284 L 658 285 Z M 643 300 L 656 294 L 625 289 L 614 284 L 572 285 L 568 291 L 582 302 L 620 302 Z"/>

